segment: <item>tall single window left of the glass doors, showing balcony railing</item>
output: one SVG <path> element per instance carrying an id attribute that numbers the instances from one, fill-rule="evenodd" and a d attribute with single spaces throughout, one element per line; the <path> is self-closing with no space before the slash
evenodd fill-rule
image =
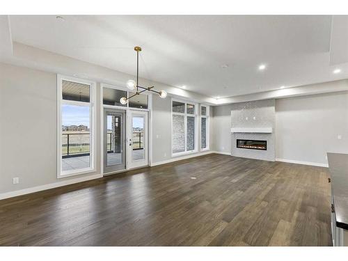
<path id="1" fill-rule="evenodd" d="M 57 78 L 58 177 L 94 171 L 93 127 L 95 84 Z"/>

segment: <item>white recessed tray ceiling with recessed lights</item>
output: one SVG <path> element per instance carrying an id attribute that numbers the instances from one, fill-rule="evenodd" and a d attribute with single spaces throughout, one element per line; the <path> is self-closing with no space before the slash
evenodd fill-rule
<path id="1" fill-rule="evenodd" d="M 13 41 L 210 97 L 348 78 L 331 16 L 10 16 Z M 336 50 L 335 56 L 340 55 Z M 266 64 L 267 69 L 258 70 Z M 228 68 L 221 68 L 221 65 Z M 340 68 L 340 74 L 333 74 Z"/>

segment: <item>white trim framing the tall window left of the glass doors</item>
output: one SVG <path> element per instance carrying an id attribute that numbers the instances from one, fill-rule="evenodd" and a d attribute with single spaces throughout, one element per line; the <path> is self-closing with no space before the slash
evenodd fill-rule
<path id="1" fill-rule="evenodd" d="M 74 81 L 78 84 L 87 84 L 90 86 L 90 102 L 78 102 L 63 100 L 62 95 L 62 81 Z M 57 74 L 57 178 L 71 177 L 74 175 L 82 175 L 87 173 L 93 173 L 96 169 L 97 164 L 97 108 L 96 108 L 96 82 L 88 81 L 86 79 L 79 79 L 75 77 L 68 77 L 65 75 Z M 63 104 L 79 105 L 79 106 L 89 106 L 90 107 L 90 167 L 81 168 L 77 171 L 62 171 L 62 150 L 61 150 L 61 106 Z M 87 105 L 89 104 L 89 105 Z"/>

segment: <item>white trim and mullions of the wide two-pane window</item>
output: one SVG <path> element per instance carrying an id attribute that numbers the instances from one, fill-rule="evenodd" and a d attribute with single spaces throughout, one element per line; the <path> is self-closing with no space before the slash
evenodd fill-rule
<path id="1" fill-rule="evenodd" d="M 184 113 L 179 113 L 179 112 L 174 112 L 173 111 L 173 102 L 181 102 L 184 105 Z M 195 106 L 194 113 L 190 114 L 187 113 L 187 104 L 193 104 Z M 185 150 L 183 152 L 176 152 L 173 153 L 173 115 L 179 115 L 179 116 L 184 116 L 184 145 L 185 145 Z M 188 116 L 193 116 L 195 118 L 195 148 L 193 150 L 187 150 L 187 117 Z M 177 157 L 177 156 L 182 156 L 182 155 L 189 155 L 198 152 L 198 103 L 192 102 L 192 101 L 186 101 L 186 100 L 177 100 L 177 99 L 171 99 L 171 157 Z"/>

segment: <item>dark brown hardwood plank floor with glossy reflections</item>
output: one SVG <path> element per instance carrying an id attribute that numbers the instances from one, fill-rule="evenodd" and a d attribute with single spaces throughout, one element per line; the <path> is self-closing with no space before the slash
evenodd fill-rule
<path id="1" fill-rule="evenodd" d="M 205 155 L 1 200 L 0 245 L 331 246 L 329 193 L 327 168 Z"/>

